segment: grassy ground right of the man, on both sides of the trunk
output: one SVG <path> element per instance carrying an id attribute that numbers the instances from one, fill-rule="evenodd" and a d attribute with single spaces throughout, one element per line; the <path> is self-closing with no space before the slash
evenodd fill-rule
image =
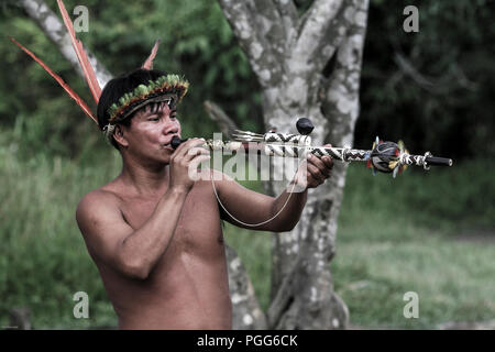
<path id="1" fill-rule="evenodd" d="M 408 169 L 396 179 L 350 167 L 331 271 L 351 324 L 425 329 L 495 319 L 495 187 L 486 167 Z M 266 308 L 271 239 L 244 232 L 229 227 L 228 242 Z M 419 297 L 417 319 L 403 315 L 408 292 Z"/>

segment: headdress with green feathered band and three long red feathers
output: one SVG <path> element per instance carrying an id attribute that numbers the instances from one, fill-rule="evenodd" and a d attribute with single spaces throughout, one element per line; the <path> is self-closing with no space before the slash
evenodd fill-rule
<path id="1" fill-rule="evenodd" d="M 73 22 L 70 21 L 67 10 L 65 9 L 64 2 L 62 0 L 57 0 L 57 3 L 58 9 L 62 13 L 62 18 L 64 20 L 64 24 L 70 35 L 70 42 L 73 43 L 74 51 L 76 52 L 77 58 L 82 68 L 84 76 L 89 86 L 89 90 L 91 91 L 95 102 L 98 105 L 101 96 L 101 87 L 98 82 L 95 69 L 89 62 L 82 43 L 76 37 Z M 82 111 L 98 124 L 98 120 L 91 112 L 91 109 L 88 107 L 88 105 L 62 79 L 61 76 L 55 74 L 45 63 L 43 63 L 42 59 L 36 57 L 36 55 L 34 55 L 26 47 L 18 43 L 13 37 L 9 36 L 9 38 L 12 41 L 12 43 L 18 45 L 28 55 L 30 55 L 37 64 L 40 64 L 65 89 L 69 97 L 76 101 L 76 103 L 82 109 Z M 146 58 L 141 68 L 147 70 L 153 69 L 153 61 L 156 57 L 158 45 L 160 41 L 156 41 L 150 56 Z M 189 82 L 177 75 L 164 75 L 155 81 L 150 80 L 147 85 L 138 86 L 133 91 L 125 94 L 110 107 L 110 109 L 108 110 L 110 118 L 108 124 L 102 128 L 103 133 L 108 139 L 111 139 L 116 123 L 123 121 L 134 111 L 141 109 L 150 102 L 170 100 L 176 100 L 174 102 L 179 102 L 186 95 L 188 88 Z"/>

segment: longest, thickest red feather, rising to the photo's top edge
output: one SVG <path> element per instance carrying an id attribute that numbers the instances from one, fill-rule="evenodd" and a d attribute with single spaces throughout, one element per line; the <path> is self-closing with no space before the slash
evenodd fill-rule
<path id="1" fill-rule="evenodd" d="M 89 58 L 88 55 L 86 54 L 82 43 L 76 38 L 76 32 L 74 32 L 73 22 L 70 21 L 70 16 L 68 15 L 67 10 L 64 7 L 64 2 L 62 2 L 62 0 L 57 0 L 57 3 L 58 8 L 61 9 L 65 26 L 67 28 L 67 31 L 70 34 L 70 42 L 73 42 L 73 46 L 76 52 L 77 58 L 79 59 L 79 64 L 82 68 L 86 81 L 88 82 L 89 90 L 91 91 L 91 95 L 95 98 L 95 102 L 98 103 L 101 96 L 100 84 L 98 82 L 95 70 L 92 69 L 92 66 L 89 63 Z"/>

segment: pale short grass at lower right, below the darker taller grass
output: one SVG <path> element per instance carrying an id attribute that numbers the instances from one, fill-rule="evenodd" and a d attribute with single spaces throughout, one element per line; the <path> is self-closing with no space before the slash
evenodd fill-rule
<path id="1" fill-rule="evenodd" d="M 346 240 L 346 231 L 331 267 L 353 324 L 432 328 L 495 318 L 494 244 L 455 242 L 428 230 L 405 240 Z M 418 319 L 403 316 L 406 292 L 419 296 Z"/>

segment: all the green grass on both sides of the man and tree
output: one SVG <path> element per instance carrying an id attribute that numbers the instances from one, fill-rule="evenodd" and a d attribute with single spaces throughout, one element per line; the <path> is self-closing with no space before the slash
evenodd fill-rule
<path id="1" fill-rule="evenodd" d="M 393 180 L 350 167 L 331 270 L 353 324 L 431 328 L 495 318 L 495 235 L 470 241 L 470 233 L 495 228 L 486 169 L 473 162 Z M 14 307 L 30 309 L 34 328 L 116 326 L 74 211 L 84 194 L 119 170 L 116 155 L 20 162 L 15 150 L 0 148 L 0 327 Z M 271 237 L 231 226 L 226 237 L 266 308 Z M 74 318 L 80 290 L 89 295 L 90 319 Z M 418 319 L 403 317 L 409 290 L 419 295 Z"/>

